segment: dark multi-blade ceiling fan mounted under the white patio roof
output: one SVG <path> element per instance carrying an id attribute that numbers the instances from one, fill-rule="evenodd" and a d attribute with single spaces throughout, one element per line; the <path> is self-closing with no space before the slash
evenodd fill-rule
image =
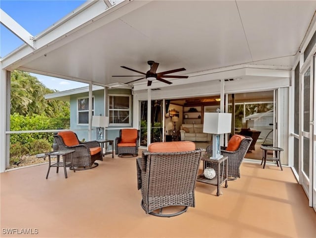
<path id="1" fill-rule="evenodd" d="M 180 68 L 180 69 L 175 69 L 175 70 L 168 70 L 168 71 L 156 73 L 159 63 L 156 63 L 153 60 L 149 60 L 149 61 L 147 61 L 147 63 L 150 65 L 150 70 L 147 71 L 147 73 L 143 73 L 143 72 L 140 72 L 140 71 L 137 71 L 137 70 L 133 70 L 133 69 L 125 67 L 125 66 L 121 66 L 124 69 L 134 71 L 134 72 L 139 73 L 141 75 L 124 75 L 124 76 L 115 75 L 115 76 L 112 76 L 112 77 L 143 77 L 143 78 L 140 78 L 140 79 L 135 79 L 135 80 L 129 81 L 127 83 L 135 82 L 135 81 L 138 81 L 138 80 L 141 80 L 141 79 L 147 79 L 147 86 L 152 85 L 152 81 L 155 80 L 155 79 L 157 79 L 158 81 L 161 81 L 161 82 L 168 83 L 168 84 L 172 83 L 172 82 L 170 82 L 170 81 L 168 81 L 166 79 L 162 79 L 162 77 L 163 78 L 174 78 L 174 79 L 187 79 L 188 78 L 188 76 L 168 75 L 168 74 L 171 74 L 171 73 L 184 71 L 184 70 L 186 70 L 185 68 Z"/>

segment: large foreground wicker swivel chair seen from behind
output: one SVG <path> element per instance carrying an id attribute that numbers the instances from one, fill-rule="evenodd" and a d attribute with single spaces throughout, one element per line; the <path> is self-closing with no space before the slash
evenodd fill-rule
<path id="1" fill-rule="evenodd" d="M 195 187 L 201 150 L 191 141 L 157 142 L 137 159 L 138 189 L 146 213 L 171 217 L 195 207 Z M 162 213 L 162 208 L 182 206 L 179 212 Z M 158 211 L 155 211 L 158 210 Z"/>

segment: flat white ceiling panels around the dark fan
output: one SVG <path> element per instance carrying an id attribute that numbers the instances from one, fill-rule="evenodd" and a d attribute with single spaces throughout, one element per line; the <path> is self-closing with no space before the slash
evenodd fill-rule
<path id="1" fill-rule="evenodd" d="M 292 67 L 315 9 L 316 1 L 155 0 L 21 67 L 96 84 L 137 79 L 112 76 L 139 75 L 120 66 L 147 72 L 148 60 L 160 63 L 157 72 L 186 68 L 181 75 L 243 63 Z"/>

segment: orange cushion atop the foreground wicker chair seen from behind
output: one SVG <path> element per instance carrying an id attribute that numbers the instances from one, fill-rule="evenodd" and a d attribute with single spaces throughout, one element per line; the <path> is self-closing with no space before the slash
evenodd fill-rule
<path id="1" fill-rule="evenodd" d="M 192 141 L 156 142 L 148 147 L 151 153 L 194 151 L 196 144 Z"/>

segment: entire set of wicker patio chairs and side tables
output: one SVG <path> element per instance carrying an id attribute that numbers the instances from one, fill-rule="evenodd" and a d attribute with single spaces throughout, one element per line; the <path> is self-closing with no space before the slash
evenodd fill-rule
<path id="1" fill-rule="evenodd" d="M 92 165 L 97 166 L 95 160 L 103 160 L 104 143 L 113 145 L 113 141 L 91 141 L 82 143 L 72 131 L 63 131 L 55 135 L 58 143 L 58 151 L 47 153 L 49 167 L 64 167 L 65 178 L 67 178 L 66 167 L 76 170 L 89 169 Z M 122 157 L 128 154 L 131 157 L 138 155 L 139 130 L 121 129 L 119 137 L 116 138 L 116 154 Z M 146 213 L 160 216 L 172 217 L 187 211 L 188 207 L 195 207 L 196 182 L 207 183 L 217 187 L 217 196 L 220 196 L 221 186 L 225 183 L 228 187 L 229 178 L 240 178 L 240 165 L 247 153 L 252 138 L 249 136 L 233 135 L 227 147 L 221 147 L 220 159 L 212 158 L 212 147 L 206 150 L 197 149 L 196 144 L 191 141 L 157 142 L 149 145 L 148 150 L 142 152 L 142 157 L 136 159 L 137 186 L 141 190 L 141 207 Z M 261 147 L 263 158 L 261 164 L 266 164 L 267 151 L 277 151 L 277 165 L 281 167 L 280 151 L 275 147 Z M 107 154 L 110 154 L 106 151 Z M 51 156 L 57 156 L 57 162 L 51 164 Z M 63 162 L 59 157 L 63 156 Z M 113 150 L 112 150 L 113 158 Z M 203 172 L 198 174 L 199 162 L 203 161 Z M 65 162 L 64 162 L 65 161 Z M 94 167 L 95 167 L 94 166 Z M 264 168 L 263 167 L 263 168 Z M 214 176 L 206 175 L 206 170 L 212 168 Z M 205 172 L 205 173 L 204 173 Z M 162 209 L 168 211 L 171 206 L 181 206 L 176 212 L 163 213 Z"/>

